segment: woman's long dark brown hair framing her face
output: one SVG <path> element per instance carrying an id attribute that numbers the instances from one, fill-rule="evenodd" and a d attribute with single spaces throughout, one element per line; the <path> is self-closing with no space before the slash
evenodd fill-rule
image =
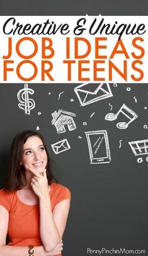
<path id="1" fill-rule="evenodd" d="M 4 184 L 4 190 L 8 192 L 13 192 L 14 190 L 21 190 L 21 188 L 23 188 L 26 185 L 25 168 L 23 165 L 20 165 L 20 162 L 23 153 L 23 145 L 26 142 L 26 140 L 32 136 L 37 136 L 42 140 L 43 146 L 45 147 L 45 151 L 47 153 L 46 169 L 48 185 L 50 185 L 53 181 L 57 182 L 57 179 L 54 177 L 54 174 L 50 171 L 48 150 L 42 135 L 37 131 L 21 131 L 16 135 L 16 137 L 14 137 L 13 142 L 11 144 L 8 162 L 8 172 L 6 174 L 6 181 Z"/>

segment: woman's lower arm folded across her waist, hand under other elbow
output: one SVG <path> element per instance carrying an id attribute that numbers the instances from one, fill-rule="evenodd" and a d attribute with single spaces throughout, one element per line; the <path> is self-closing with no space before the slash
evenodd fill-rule
<path id="1" fill-rule="evenodd" d="M 0 205 L 0 256 L 26 256 L 28 254 L 28 247 L 18 247 L 6 245 L 6 236 L 8 232 L 9 213 Z M 43 246 L 34 247 L 34 256 L 52 256 L 57 255 L 62 250 L 62 241 L 57 244 L 54 250 L 47 252 Z"/>

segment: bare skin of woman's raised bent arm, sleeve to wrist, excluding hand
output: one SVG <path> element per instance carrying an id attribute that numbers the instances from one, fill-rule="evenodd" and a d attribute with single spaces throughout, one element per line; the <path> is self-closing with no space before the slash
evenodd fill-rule
<path id="1" fill-rule="evenodd" d="M 69 207 L 70 199 L 65 199 L 55 205 L 52 213 L 50 197 L 40 198 L 40 238 L 45 250 L 52 250 L 62 238 Z"/>

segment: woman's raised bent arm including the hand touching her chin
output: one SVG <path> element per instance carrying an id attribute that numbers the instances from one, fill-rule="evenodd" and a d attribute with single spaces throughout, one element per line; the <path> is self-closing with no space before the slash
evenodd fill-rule
<path id="1" fill-rule="evenodd" d="M 45 250 L 50 251 L 59 243 L 64 233 L 70 200 L 65 199 L 55 205 L 52 212 L 46 171 L 43 172 L 42 176 L 35 169 L 29 169 L 34 174 L 31 179 L 31 187 L 38 195 L 40 204 L 40 238 Z"/>

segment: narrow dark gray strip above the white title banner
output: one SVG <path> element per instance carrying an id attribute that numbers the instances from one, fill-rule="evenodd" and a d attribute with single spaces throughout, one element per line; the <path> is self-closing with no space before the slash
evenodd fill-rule
<path id="1" fill-rule="evenodd" d="M 147 15 L 147 0 L 1 0 L 1 15 Z"/>

